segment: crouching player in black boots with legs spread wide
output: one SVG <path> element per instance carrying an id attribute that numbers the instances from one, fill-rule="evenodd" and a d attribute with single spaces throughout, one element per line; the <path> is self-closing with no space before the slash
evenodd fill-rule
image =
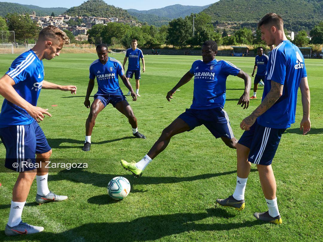
<path id="1" fill-rule="evenodd" d="M 123 95 L 119 86 L 119 78 L 121 77 L 123 84 L 129 89 L 132 101 L 137 100 L 137 95 L 134 93 L 132 86 L 124 74 L 124 70 L 121 63 L 108 56 L 108 46 L 105 44 L 97 45 L 97 54 L 99 59 L 93 61 L 90 65 L 89 85 L 86 93 L 84 105 L 90 108 L 89 117 L 86 120 L 86 133 L 85 142 L 82 150 L 89 151 L 91 148 L 91 135 L 95 125 L 95 119 L 99 112 L 103 110 L 109 103 L 113 107 L 118 109 L 120 113 L 128 118 L 128 121 L 132 127 L 132 134 L 136 138 L 145 139 L 146 137 L 138 132 L 137 118 L 133 114 L 133 111 Z M 98 92 L 94 95 L 94 101 L 90 105 L 89 97 L 94 87 L 94 79 L 97 78 Z"/>

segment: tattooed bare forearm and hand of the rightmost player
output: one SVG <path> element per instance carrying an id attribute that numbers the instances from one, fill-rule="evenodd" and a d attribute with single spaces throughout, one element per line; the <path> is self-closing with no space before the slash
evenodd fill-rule
<path id="1" fill-rule="evenodd" d="M 252 114 L 242 120 L 240 127 L 244 130 L 249 130 L 255 123 L 257 117 L 265 113 L 271 106 L 273 106 L 279 97 L 283 94 L 284 85 L 271 81 L 271 88 L 268 94 L 263 99 L 262 103 L 252 112 Z"/>

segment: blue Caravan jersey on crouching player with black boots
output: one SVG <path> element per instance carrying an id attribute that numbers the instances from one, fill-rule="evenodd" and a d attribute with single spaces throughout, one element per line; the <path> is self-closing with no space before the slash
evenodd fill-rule
<path id="1" fill-rule="evenodd" d="M 124 75 L 124 70 L 120 61 L 108 57 L 108 61 L 103 65 L 99 59 L 90 65 L 90 79 L 97 78 L 98 94 L 123 95 L 119 86 L 119 76 Z"/>

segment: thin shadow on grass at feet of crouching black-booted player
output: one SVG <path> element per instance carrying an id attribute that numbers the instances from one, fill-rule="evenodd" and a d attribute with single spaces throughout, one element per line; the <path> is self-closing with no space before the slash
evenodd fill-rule
<path id="1" fill-rule="evenodd" d="M 117 138 L 117 139 L 110 139 L 110 140 L 104 140 L 104 141 L 100 141 L 100 142 L 92 142 L 91 145 L 102 145 L 102 144 L 107 144 L 107 143 L 111 143 L 111 142 L 116 142 L 116 141 L 120 141 L 123 139 L 135 139 L 136 137 L 134 136 L 126 136 L 126 137 L 122 137 L 122 138 Z M 48 138 L 47 139 L 48 144 L 50 147 L 52 148 L 60 148 L 60 149 L 68 149 L 68 148 L 83 148 L 84 145 L 84 140 L 77 140 L 77 139 L 51 139 Z M 62 143 L 68 143 L 68 144 L 79 144 L 79 146 L 65 146 L 65 145 L 61 145 Z"/>

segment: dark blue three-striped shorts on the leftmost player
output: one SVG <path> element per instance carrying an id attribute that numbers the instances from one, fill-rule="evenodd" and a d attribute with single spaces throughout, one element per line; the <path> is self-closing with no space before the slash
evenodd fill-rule
<path id="1" fill-rule="evenodd" d="M 0 128 L 0 138 L 5 146 L 5 167 L 17 172 L 36 169 L 28 164 L 36 163 L 35 154 L 51 150 L 43 130 L 34 120 L 30 125 Z"/>

